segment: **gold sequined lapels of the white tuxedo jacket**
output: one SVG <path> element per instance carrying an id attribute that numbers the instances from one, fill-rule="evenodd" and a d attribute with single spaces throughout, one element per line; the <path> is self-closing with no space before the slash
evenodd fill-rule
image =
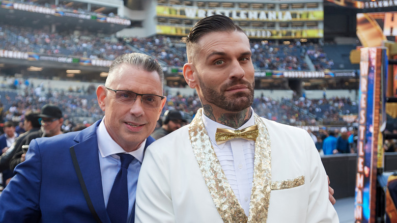
<path id="1" fill-rule="evenodd" d="M 259 135 L 255 143 L 254 173 L 249 215 L 238 202 L 216 157 L 202 119 L 202 108 L 189 125 L 189 138 L 198 166 L 223 222 L 266 222 L 270 200 L 270 137 L 265 123 L 254 114 Z"/>

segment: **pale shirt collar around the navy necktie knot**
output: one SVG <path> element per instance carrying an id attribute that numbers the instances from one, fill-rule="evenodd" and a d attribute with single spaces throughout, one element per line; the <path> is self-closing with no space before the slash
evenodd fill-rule
<path id="1" fill-rule="evenodd" d="M 97 128 L 97 138 L 98 138 L 98 149 L 101 153 L 102 158 L 106 156 L 113 156 L 115 158 L 119 158 L 117 153 L 127 153 L 119 144 L 117 144 L 109 135 L 106 130 L 105 117 L 103 117 L 101 123 Z M 140 163 L 144 160 L 144 149 L 145 149 L 146 139 L 142 142 L 137 150 L 129 152 L 128 154 L 132 155 L 137 159 Z"/>

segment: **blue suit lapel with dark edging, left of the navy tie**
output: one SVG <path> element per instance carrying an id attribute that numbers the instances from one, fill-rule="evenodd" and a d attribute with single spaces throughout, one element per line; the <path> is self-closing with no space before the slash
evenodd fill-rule
<path id="1" fill-rule="evenodd" d="M 102 177 L 99 165 L 98 141 L 96 135 L 96 127 L 99 123 L 100 121 L 81 131 L 75 137 L 75 140 L 80 143 L 77 143 L 70 149 L 71 153 L 72 150 L 75 152 L 83 183 L 87 188 L 89 198 L 96 214 L 102 222 L 110 222 L 103 199 Z"/>

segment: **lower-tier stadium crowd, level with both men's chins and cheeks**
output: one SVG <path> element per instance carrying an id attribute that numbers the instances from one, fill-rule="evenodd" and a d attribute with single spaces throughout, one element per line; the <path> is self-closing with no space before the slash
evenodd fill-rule
<path id="1" fill-rule="evenodd" d="M 45 89 L 43 85 L 33 86 L 29 80 L 2 77 L 0 80 L 0 121 L 20 120 L 26 110 L 39 109 L 46 103 L 60 106 L 68 122 L 84 121 L 92 123 L 103 116 L 97 104 L 96 86 L 86 89 Z M 196 95 L 185 96 L 165 93 L 167 102 L 163 112 L 177 109 L 190 117 L 201 107 Z M 345 124 L 343 115 L 357 114 L 358 106 L 349 98 L 292 99 L 274 100 L 270 97 L 254 99 L 253 109 L 267 119 L 289 125 Z"/>

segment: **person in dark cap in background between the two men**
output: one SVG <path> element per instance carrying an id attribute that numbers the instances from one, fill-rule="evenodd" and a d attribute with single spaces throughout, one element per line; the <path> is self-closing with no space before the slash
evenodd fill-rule
<path id="1" fill-rule="evenodd" d="M 167 110 L 164 113 L 164 124 L 161 128 L 154 131 L 151 136 L 158 140 L 159 138 L 179 129 L 182 127 L 182 123 L 186 122 L 182 117 L 182 113 L 179 110 Z"/>

